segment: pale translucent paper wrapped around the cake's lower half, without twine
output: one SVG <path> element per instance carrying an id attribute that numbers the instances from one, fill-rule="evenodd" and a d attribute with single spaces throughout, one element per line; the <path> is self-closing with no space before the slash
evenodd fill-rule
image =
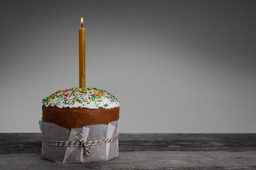
<path id="1" fill-rule="evenodd" d="M 111 139 L 118 135 L 119 121 L 106 124 L 83 126 L 83 128 L 66 129 L 56 124 L 39 121 L 44 139 L 51 141 L 79 141 L 74 134 L 81 133 L 85 141 Z M 42 144 L 42 156 L 47 160 L 59 163 L 85 163 L 92 161 L 107 161 L 116 158 L 119 154 L 118 140 L 89 146 L 91 154 L 85 155 L 83 146 L 51 146 Z"/>

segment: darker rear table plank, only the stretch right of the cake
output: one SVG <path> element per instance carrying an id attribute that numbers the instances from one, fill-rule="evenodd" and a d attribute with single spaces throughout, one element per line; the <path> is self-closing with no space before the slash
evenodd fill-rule
<path id="1" fill-rule="evenodd" d="M 121 151 L 256 150 L 256 134 L 254 133 L 121 134 L 119 141 Z"/>

